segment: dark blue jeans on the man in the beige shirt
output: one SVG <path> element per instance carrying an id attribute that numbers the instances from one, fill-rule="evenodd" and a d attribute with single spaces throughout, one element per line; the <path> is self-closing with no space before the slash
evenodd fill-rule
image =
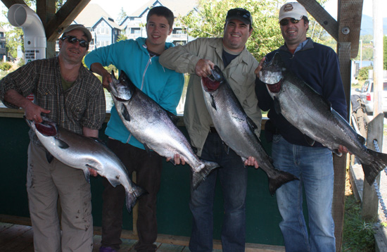
<path id="1" fill-rule="evenodd" d="M 246 235 L 247 168 L 241 157 L 229 149 L 227 154 L 217 133 L 209 133 L 201 158 L 217 162 L 221 167 L 212 171 L 196 190 L 191 188 L 189 208 L 194 221 L 189 249 L 192 252 L 212 252 L 215 184 L 219 176 L 224 199 L 222 251 L 244 252 Z"/>

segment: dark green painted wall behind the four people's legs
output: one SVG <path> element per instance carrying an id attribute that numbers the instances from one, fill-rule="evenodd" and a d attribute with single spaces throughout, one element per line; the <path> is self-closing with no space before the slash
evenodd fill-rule
<path id="1" fill-rule="evenodd" d="M 103 134 L 106 124 L 100 132 Z M 28 217 L 27 170 L 28 126 L 22 118 L 0 117 L 0 214 Z M 186 134 L 184 127 L 180 130 Z M 269 152 L 269 144 L 261 137 Z M 269 153 L 270 154 L 270 153 Z M 158 233 L 189 237 L 191 212 L 189 211 L 189 166 L 165 163 L 158 194 Z M 91 177 L 94 225 L 101 226 L 101 177 Z M 222 192 L 219 183 L 214 207 L 214 239 L 220 239 L 222 229 Z M 246 203 L 246 242 L 283 245 L 279 230 L 281 217 L 275 196 L 270 196 L 267 175 L 262 170 L 248 168 L 248 196 Z M 124 228 L 132 230 L 132 214 L 124 210 Z"/>

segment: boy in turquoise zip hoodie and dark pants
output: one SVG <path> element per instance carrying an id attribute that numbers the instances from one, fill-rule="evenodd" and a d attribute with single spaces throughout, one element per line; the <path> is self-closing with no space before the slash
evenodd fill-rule
<path id="1" fill-rule="evenodd" d="M 110 73 L 103 68 L 115 65 L 123 70 L 132 82 L 167 111 L 176 114 L 176 107 L 182 95 L 184 76 L 163 68 L 158 63 L 165 49 L 173 46 L 165 42 L 172 32 L 174 15 L 164 6 L 151 8 L 146 17 L 147 37 L 111 44 L 91 51 L 84 63 L 102 76 L 103 87 L 112 82 Z M 137 184 L 148 194 L 139 199 L 137 230 L 139 242 L 136 251 L 156 251 L 153 244 L 157 238 L 156 196 L 160 188 L 162 158 L 156 153 L 148 153 L 143 144 L 135 139 L 120 119 L 115 106 L 110 111 L 110 120 L 105 132 L 108 147 L 122 160 L 129 174 L 137 172 Z M 122 231 L 122 206 L 125 190 L 122 186 L 112 187 L 103 179 L 102 240 L 100 252 L 120 249 Z"/>

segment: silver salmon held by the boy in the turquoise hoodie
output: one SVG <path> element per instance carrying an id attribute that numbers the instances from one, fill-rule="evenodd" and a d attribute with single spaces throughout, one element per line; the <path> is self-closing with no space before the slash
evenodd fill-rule
<path id="1" fill-rule="evenodd" d="M 215 162 L 198 158 L 189 141 L 175 125 L 177 116 L 144 94 L 123 71 L 118 80 L 112 73 L 112 79 L 110 94 L 127 130 L 144 144 L 146 149 L 156 151 L 165 158 L 171 158 L 172 163 L 175 153 L 183 157 L 191 167 L 194 189 L 213 169 L 219 167 Z"/>

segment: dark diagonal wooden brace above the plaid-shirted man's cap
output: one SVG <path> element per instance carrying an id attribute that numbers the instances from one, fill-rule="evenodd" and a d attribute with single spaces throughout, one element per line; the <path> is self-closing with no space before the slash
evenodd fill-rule
<path id="1" fill-rule="evenodd" d="M 44 26 L 46 30 L 47 42 L 55 42 L 64 28 L 70 25 L 77 18 L 77 15 L 83 11 L 90 0 L 68 0 L 53 16 L 53 18 Z"/>

